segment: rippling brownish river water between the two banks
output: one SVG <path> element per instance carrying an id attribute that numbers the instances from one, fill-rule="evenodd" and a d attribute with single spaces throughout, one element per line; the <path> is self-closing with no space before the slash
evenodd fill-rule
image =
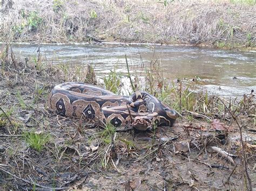
<path id="1" fill-rule="evenodd" d="M 256 90 L 256 52 L 226 51 L 194 46 L 155 46 L 127 44 L 43 44 L 41 53 L 53 63 L 95 67 L 96 75 L 105 75 L 114 66 L 118 72 L 127 72 L 125 54 L 131 73 L 149 66 L 153 56 L 161 62 L 163 75 L 177 78 L 200 77 L 200 89 L 222 96 L 242 96 Z M 36 55 L 38 45 L 14 44 L 21 59 Z M 140 74 L 139 74 L 140 75 Z"/>

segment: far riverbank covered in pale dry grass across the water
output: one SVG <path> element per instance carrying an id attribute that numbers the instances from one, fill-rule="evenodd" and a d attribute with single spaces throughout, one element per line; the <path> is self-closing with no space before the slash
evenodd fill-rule
<path id="1" fill-rule="evenodd" d="M 12 2 L 0 12 L 0 41 L 255 47 L 250 1 Z"/>

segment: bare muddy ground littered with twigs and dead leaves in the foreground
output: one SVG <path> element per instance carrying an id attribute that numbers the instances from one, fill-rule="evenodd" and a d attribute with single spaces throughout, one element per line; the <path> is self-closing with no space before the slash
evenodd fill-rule
<path id="1" fill-rule="evenodd" d="M 39 72 L 24 68 L 23 62 L 4 68 L 2 62 L 1 71 L 0 189 L 248 188 L 240 131 L 232 120 L 223 121 L 230 126 L 224 138 L 205 119 L 184 116 L 172 128 L 117 130 L 111 138 L 104 128 L 48 110 L 48 94 L 65 81 L 60 70 Z M 238 117 L 244 125 L 247 171 L 256 188 L 254 120 Z M 26 132 L 50 139 L 38 151 Z M 234 164 L 212 146 L 233 154 Z"/>

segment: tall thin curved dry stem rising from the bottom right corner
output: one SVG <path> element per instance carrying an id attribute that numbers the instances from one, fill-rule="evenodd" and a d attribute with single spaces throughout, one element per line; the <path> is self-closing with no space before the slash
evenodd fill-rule
<path id="1" fill-rule="evenodd" d="M 232 116 L 232 118 L 234 119 L 234 121 L 237 123 L 238 127 L 239 127 L 239 130 L 240 130 L 240 139 L 241 139 L 241 145 L 242 145 L 242 155 L 244 157 L 244 166 L 245 166 L 245 173 L 246 173 L 246 176 L 247 176 L 247 179 L 248 179 L 248 184 L 249 184 L 249 190 L 252 190 L 252 181 L 251 181 L 251 178 L 248 174 L 248 170 L 247 170 L 247 161 L 246 161 L 246 155 L 245 155 L 245 148 L 244 148 L 244 142 L 242 141 L 242 126 L 239 125 L 238 121 L 237 121 L 237 118 L 232 114 L 232 112 L 230 111 L 230 109 L 227 108 L 227 105 L 218 97 L 218 96 L 215 96 L 218 98 L 218 100 L 220 100 L 225 108 L 228 110 L 228 112 L 230 113 L 230 115 Z"/>

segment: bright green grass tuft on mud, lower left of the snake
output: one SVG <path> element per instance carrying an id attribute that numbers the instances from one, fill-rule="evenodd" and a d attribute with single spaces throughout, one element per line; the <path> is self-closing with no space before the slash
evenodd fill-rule
<path id="1" fill-rule="evenodd" d="M 25 142 L 36 151 L 42 151 L 45 144 L 50 141 L 50 135 L 46 133 L 26 132 L 23 135 Z"/>

